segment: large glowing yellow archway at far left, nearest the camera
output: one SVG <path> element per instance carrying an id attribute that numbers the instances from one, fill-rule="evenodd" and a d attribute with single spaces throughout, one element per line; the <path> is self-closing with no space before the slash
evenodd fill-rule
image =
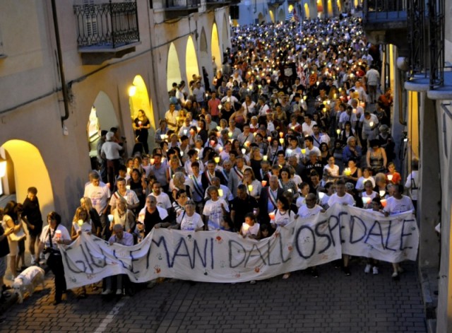
<path id="1" fill-rule="evenodd" d="M 0 155 L 6 158 L 6 175 L 2 177 L 6 194 L 16 193 L 16 201 L 23 202 L 28 187 L 37 188 L 42 216 L 54 210 L 54 193 L 49 171 L 36 146 L 23 140 L 6 141 L 0 147 Z"/>

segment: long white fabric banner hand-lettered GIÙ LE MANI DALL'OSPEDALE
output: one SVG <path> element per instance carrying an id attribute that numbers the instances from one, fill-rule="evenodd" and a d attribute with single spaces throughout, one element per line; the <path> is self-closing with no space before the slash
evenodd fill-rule
<path id="1" fill-rule="evenodd" d="M 115 274 L 133 282 L 158 277 L 232 283 L 268 279 L 325 264 L 343 254 L 386 262 L 415 260 L 419 233 L 411 213 L 383 214 L 335 205 L 326 213 L 298 218 L 269 238 L 251 240 L 227 231 L 153 229 L 138 245 L 109 245 L 82 233 L 59 245 L 68 288 Z"/>

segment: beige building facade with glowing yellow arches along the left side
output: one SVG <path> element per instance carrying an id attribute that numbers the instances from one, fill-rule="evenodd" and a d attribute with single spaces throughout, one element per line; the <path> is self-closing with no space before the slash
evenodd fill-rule
<path id="1" fill-rule="evenodd" d="M 155 124 L 173 82 L 213 78 L 230 46 L 222 1 L 28 1 L 0 4 L 1 192 L 22 202 L 38 189 L 43 214 L 70 223 L 88 181 L 100 129 Z"/>

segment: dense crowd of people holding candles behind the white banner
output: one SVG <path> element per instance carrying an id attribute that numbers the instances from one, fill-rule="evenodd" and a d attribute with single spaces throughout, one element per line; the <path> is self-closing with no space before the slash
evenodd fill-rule
<path id="1" fill-rule="evenodd" d="M 52 212 L 40 250 L 58 259 L 57 243 L 83 231 L 122 245 L 153 228 L 261 239 L 335 203 L 386 215 L 415 209 L 403 185 L 415 204 L 417 161 L 403 182 L 390 134 L 391 90 L 380 85 L 379 49 L 366 41 L 360 18 L 250 25 L 231 36 L 213 79 L 203 70 L 173 84 L 152 151 L 142 110 L 130 158 L 117 129 L 102 131 L 99 168 L 89 174 L 71 232 Z M 53 261 L 58 303 L 64 271 Z M 348 262 L 344 256 L 345 275 Z M 364 271 L 378 274 L 378 262 Z M 394 264 L 394 279 L 400 271 Z M 319 276 L 316 267 L 311 274 Z M 121 294 L 120 278 L 103 293 L 112 282 Z"/>

